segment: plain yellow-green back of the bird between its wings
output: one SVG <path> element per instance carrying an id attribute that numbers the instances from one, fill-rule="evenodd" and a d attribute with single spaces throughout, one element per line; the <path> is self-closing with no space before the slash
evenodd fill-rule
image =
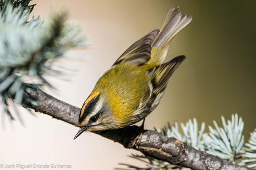
<path id="1" fill-rule="evenodd" d="M 106 96 L 120 124 L 129 121 L 149 85 L 147 67 L 132 66 L 129 63 L 116 65 L 99 79 L 93 89 Z"/>

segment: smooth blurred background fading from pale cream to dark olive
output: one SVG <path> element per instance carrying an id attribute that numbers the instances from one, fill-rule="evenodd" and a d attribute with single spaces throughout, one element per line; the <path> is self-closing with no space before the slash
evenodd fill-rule
<path id="1" fill-rule="evenodd" d="M 53 96 L 81 107 L 97 79 L 132 43 L 163 24 L 169 8 L 180 7 L 193 21 L 171 43 L 166 61 L 187 57 L 169 82 L 165 95 L 145 128 L 196 118 L 212 125 L 220 116 L 238 113 L 244 135 L 256 128 L 256 1 L 99 1 L 44 0 L 33 11 L 47 22 L 51 12 L 66 8 L 80 24 L 88 47 L 68 81 L 46 77 L 57 87 Z M 75 53 L 74 53 L 75 54 Z M 69 61 L 70 62 L 70 61 Z M 118 163 L 137 164 L 135 153 L 92 133 L 73 141 L 78 128 L 44 114 L 22 111 L 24 126 L 6 119 L 0 129 L 0 163 L 71 164 L 72 169 L 114 169 Z M 208 129 L 208 128 L 206 128 Z"/>

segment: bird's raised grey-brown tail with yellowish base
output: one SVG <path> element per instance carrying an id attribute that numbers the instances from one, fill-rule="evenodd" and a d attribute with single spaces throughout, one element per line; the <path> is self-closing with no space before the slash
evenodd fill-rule
<path id="1" fill-rule="evenodd" d="M 152 43 L 151 57 L 153 62 L 163 63 L 169 49 L 171 39 L 188 25 L 192 20 L 192 16 L 181 14 L 180 9 L 170 9 L 159 34 Z"/>

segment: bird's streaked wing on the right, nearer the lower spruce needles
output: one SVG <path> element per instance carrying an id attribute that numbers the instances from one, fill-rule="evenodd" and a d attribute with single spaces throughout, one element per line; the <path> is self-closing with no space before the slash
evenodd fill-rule
<path id="1" fill-rule="evenodd" d="M 148 71 L 148 74 L 151 76 L 151 82 L 149 83 L 144 96 L 141 98 L 140 105 L 134 115 L 144 118 L 155 109 L 159 104 L 161 97 L 163 97 L 164 89 L 171 75 L 184 59 L 185 56 L 178 56 L 171 61 L 151 68 Z"/>

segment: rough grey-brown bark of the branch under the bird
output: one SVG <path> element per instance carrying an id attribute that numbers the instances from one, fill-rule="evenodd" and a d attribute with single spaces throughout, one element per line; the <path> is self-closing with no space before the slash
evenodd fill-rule
<path id="1" fill-rule="evenodd" d="M 26 102 L 26 97 L 28 96 L 36 98 L 38 100 L 38 105 L 33 106 L 28 104 Z M 24 107 L 34 109 L 36 112 L 48 114 L 53 118 L 73 124 L 76 127 L 80 126 L 78 123 L 80 108 L 62 102 L 42 91 L 26 92 L 24 93 L 24 97 Z M 139 137 L 140 128 L 137 126 L 102 131 L 97 132 L 97 134 L 118 142 L 126 148 L 136 149 L 147 156 L 191 169 L 249 169 L 247 167 L 242 167 L 238 164 L 225 161 L 206 152 L 198 151 L 178 139 L 162 136 L 155 131 L 144 130 L 142 136 Z M 137 140 L 138 138 L 140 140 Z"/>

